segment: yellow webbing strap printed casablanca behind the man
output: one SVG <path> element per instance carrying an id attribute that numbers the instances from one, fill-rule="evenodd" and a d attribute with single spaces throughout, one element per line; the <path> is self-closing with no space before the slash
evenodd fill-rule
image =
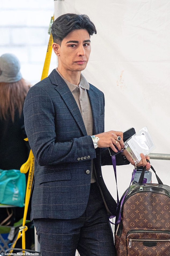
<path id="1" fill-rule="evenodd" d="M 54 16 L 51 17 L 50 26 L 52 25 L 53 21 L 54 21 Z M 51 31 L 51 27 L 49 28 L 49 30 Z M 51 53 L 52 53 L 52 43 L 53 43 L 53 36 L 50 32 L 50 38 L 49 38 L 49 43 L 48 43 L 48 47 L 47 47 L 47 53 L 46 53 L 46 58 L 45 58 L 44 67 L 43 67 L 43 71 L 42 71 L 41 80 L 48 76 L 50 60 L 51 60 Z M 24 140 L 28 141 L 28 138 L 25 138 Z M 34 176 L 34 161 L 35 161 L 34 155 L 32 153 L 32 150 L 30 150 L 27 162 L 25 162 L 20 168 L 21 173 L 27 173 L 29 170 L 27 189 L 26 189 L 26 193 L 25 193 L 25 208 L 24 208 L 23 226 L 20 227 L 20 231 L 18 233 L 17 239 L 14 241 L 13 246 L 10 250 L 10 253 L 13 252 L 13 248 L 15 247 L 18 239 L 21 236 L 22 236 L 22 249 L 23 250 L 25 249 L 25 231 L 27 231 L 27 229 L 28 229 L 28 227 L 25 226 L 25 221 L 26 221 L 26 217 L 27 217 L 28 204 L 29 204 L 29 199 L 30 199 L 30 195 L 31 195 L 32 182 L 33 182 L 33 176 Z M 23 253 L 24 253 L 24 251 L 23 251 Z"/>

